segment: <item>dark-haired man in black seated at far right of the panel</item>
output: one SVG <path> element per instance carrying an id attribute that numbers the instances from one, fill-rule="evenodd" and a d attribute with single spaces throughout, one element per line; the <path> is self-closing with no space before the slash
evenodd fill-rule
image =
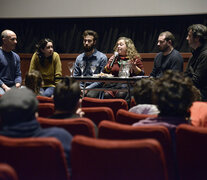
<path id="1" fill-rule="evenodd" d="M 207 101 L 207 27 L 202 24 L 189 26 L 186 39 L 192 48 L 192 56 L 185 75 L 192 78 L 194 85 L 201 92 L 202 100 Z"/>

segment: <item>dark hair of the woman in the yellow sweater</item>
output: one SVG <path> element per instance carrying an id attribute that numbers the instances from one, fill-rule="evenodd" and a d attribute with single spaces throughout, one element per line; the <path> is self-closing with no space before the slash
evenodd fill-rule
<path id="1" fill-rule="evenodd" d="M 39 41 L 39 43 L 36 45 L 36 51 L 37 51 L 37 55 L 39 57 L 39 60 L 40 60 L 40 64 L 42 66 L 44 66 L 44 60 L 45 60 L 45 55 L 44 53 L 41 51 L 41 49 L 44 49 L 46 46 L 47 46 L 47 43 L 48 42 L 51 42 L 53 43 L 53 41 L 49 38 L 44 38 L 44 39 L 41 39 Z M 52 56 L 48 57 L 49 59 L 49 62 L 51 63 L 52 62 Z"/>

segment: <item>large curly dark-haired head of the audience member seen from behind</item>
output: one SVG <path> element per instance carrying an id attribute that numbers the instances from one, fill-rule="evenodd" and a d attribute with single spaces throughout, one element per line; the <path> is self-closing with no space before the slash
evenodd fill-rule
<path id="1" fill-rule="evenodd" d="M 188 117 L 189 108 L 195 101 L 193 83 L 182 73 L 167 70 L 155 82 L 153 100 L 160 116 Z"/>

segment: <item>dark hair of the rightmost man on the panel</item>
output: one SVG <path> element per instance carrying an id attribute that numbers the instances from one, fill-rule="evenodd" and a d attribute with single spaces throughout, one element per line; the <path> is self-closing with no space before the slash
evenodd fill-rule
<path id="1" fill-rule="evenodd" d="M 193 38 L 199 37 L 201 44 L 207 40 L 207 27 L 202 24 L 193 24 L 188 27 L 188 32 L 192 30 Z"/>

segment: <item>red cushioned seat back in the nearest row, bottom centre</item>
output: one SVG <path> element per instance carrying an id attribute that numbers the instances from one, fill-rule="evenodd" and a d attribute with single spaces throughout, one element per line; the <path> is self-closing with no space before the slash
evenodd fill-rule
<path id="1" fill-rule="evenodd" d="M 73 180 L 165 180 L 160 143 L 145 140 L 101 140 L 76 136 L 72 141 Z"/>

